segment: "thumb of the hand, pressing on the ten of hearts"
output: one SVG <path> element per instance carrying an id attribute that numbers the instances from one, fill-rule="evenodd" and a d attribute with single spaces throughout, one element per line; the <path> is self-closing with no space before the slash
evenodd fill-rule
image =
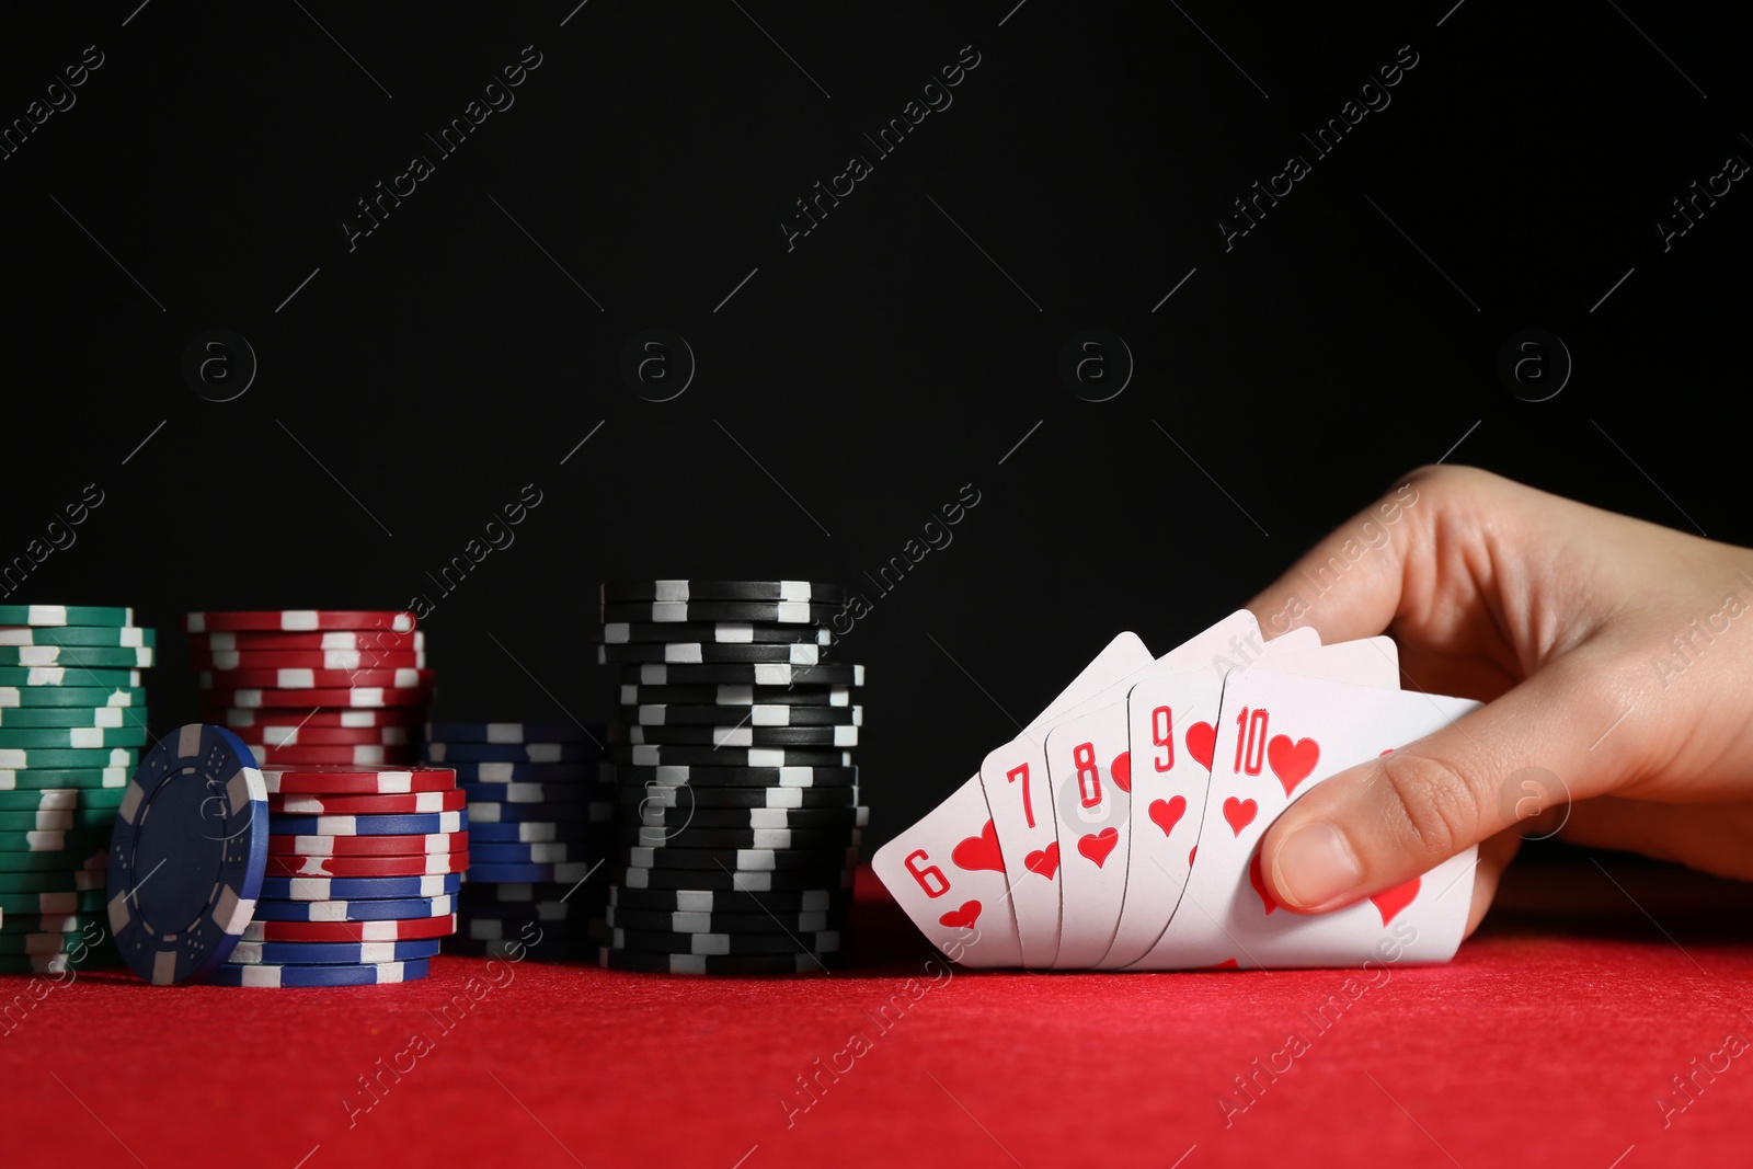
<path id="1" fill-rule="evenodd" d="M 1590 685 L 1586 657 L 1567 654 L 1488 706 L 1290 804 L 1260 840 L 1273 897 L 1304 913 L 1338 910 L 1616 783 L 1623 755 L 1592 747 L 1620 710 Z"/>

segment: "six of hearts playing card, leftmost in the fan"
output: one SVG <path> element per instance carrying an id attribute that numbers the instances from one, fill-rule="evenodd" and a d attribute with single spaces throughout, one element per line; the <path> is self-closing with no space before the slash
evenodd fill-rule
<path id="1" fill-rule="evenodd" d="M 952 962 L 1022 966 L 1017 922 L 1006 906 L 1004 859 L 978 775 L 878 848 L 871 868 Z"/>

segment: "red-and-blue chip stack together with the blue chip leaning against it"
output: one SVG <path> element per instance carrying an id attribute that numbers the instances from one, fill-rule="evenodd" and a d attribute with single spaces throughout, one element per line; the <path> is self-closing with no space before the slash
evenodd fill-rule
<path id="1" fill-rule="evenodd" d="M 424 978 L 456 929 L 466 820 L 447 769 L 256 768 L 231 731 L 167 734 L 128 783 L 109 924 L 158 985 Z"/>

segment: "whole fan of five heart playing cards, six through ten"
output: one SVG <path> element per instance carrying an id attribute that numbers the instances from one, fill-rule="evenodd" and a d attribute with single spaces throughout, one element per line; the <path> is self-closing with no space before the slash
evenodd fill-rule
<path id="1" fill-rule="evenodd" d="M 1399 689 L 1388 638 L 1262 641 L 1246 610 L 1152 659 L 1117 636 L 980 775 L 873 857 L 971 967 L 1245 969 L 1446 962 L 1474 850 L 1322 915 L 1255 852 L 1290 801 L 1478 703 Z"/>

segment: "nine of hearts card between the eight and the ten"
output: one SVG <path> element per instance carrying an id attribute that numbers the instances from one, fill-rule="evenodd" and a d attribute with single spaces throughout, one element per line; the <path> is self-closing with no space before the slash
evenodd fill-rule
<path id="1" fill-rule="evenodd" d="M 1288 641 L 1267 641 L 1278 648 Z M 1285 647 L 1248 670 L 1297 673 L 1394 689 L 1399 648 L 1392 638 L 1362 638 L 1315 648 Z M 1113 945 L 1097 962 L 1118 969 L 1139 960 L 1162 936 L 1187 887 L 1204 820 L 1224 677 L 1199 673 L 1148 678 L 1127 696 L 1132 759 L 1132 817 L 1125 903 Z"/>

